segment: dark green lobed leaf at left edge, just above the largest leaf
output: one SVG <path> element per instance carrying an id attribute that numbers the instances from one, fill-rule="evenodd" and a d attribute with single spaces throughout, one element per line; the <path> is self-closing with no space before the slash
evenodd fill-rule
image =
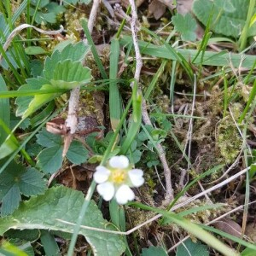
<path id="1" fill-rule="evenodd" d="M 43 194 L 46 182 L 35 168 L 25 169 L 12 161 L 0 174 L 0 188 L 1 215 L 5 216 L 19 206 L 20 193 L 26 196 Z"/>

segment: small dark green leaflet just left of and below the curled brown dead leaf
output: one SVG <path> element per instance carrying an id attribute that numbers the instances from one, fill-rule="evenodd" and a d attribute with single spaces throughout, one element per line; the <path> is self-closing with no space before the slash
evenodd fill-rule
<path id="1" fill-rule="evenodd" d="M 45 148 L 50 148 L 53 146 L 61 147 L 61 144 L 62 144 L 61 136 L 52 134 L 46 131 L 45 128 L 43 128 L 42 131 L 39 131 L 36 137 L 37 137 L 37 143 Z"/>

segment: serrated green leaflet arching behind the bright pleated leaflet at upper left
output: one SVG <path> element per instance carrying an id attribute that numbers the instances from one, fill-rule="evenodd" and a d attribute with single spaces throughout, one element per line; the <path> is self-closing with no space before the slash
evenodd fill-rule
<path id="1" fill-rule="evenodd" d="M 83 42 L 78 44 L 67 44 L 62 49 L 56 49 L 54 53 L 45 59 L 44 66 L 44 78 L 52 79 L 52 72 L 55 70 L 55 66 L 58 62 L 71 60 L 71 61 L 82 61 L 84 56 L 89 52 L 90 47 L 85 45 Z"/>

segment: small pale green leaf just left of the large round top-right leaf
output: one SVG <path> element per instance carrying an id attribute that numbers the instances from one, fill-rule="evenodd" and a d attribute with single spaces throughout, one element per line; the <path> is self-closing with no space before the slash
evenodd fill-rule
<path id="1" fill-rule="evenodd" d="M 196 39 L 196 21 L 190 14 L 180 15 L 177 14 L 172 17 L 172 23 L 177 30 L 181 33 L 181 38 L 184 41 L 195 41 Z"/>

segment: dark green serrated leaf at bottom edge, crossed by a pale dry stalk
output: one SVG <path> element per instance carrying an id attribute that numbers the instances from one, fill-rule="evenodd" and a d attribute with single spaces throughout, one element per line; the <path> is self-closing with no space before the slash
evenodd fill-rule
<path id="1" fill-rule="evenodd" d="M 176 256 L 209 256 L 206 245 L 201 241 L 193 242 L 190 238 L 177 247 Z"/>

